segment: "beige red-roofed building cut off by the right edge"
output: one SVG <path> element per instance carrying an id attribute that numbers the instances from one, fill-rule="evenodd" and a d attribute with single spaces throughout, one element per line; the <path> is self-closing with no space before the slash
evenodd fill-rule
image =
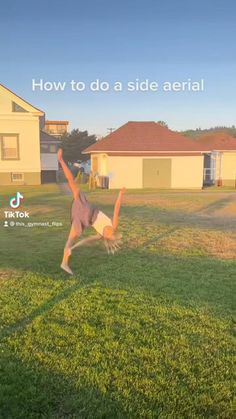
<path id="1" fill-rule="evenodd" d="M 236 186 L 236 138 L 212 132 L 197 140 L 204 152 L 204 184 Z"/>

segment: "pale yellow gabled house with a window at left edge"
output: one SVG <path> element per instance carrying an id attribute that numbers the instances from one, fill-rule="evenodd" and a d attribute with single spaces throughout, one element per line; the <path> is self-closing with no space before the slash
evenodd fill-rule
<path id="1" fill-rule="evenodd" d="M 0 185 L 56 181 L 58 140 L 44 125 L 43 111 L 0 85 Z"/>

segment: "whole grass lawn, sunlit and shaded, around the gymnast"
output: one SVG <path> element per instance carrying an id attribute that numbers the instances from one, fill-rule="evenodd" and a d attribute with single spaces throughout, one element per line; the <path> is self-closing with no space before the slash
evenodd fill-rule
<path id="1" fill-rule="evenodd" d="M 127 193 L 122 249 L 75 250 L 71 197 L 21 187 L 31 222 L 3 227 L 2 418 L 234 418 L 236 195 Z M 88 193 L 112 214 L 116 192 Z M 90 234 L 88 232 L 87 234 Z"/>

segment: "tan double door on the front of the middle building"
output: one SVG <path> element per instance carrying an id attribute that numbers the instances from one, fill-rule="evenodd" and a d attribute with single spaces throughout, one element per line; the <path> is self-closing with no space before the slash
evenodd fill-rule
<path id="1" fill-rule="evenodd" d="M 143 159 L 143 187 L 171 188 L 171 159 Z"/>

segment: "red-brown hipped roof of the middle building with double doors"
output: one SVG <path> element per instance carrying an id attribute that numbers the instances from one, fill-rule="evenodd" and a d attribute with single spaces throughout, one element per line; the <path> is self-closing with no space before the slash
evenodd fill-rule
<path id="1" fill-rule="evenodd" d="M 137 152 L 199 153 L 201 146 L 156 122 L 127 122 L 102 140 L 86 148 L 83 153 L 106 152 L 132 155 Z"/>

